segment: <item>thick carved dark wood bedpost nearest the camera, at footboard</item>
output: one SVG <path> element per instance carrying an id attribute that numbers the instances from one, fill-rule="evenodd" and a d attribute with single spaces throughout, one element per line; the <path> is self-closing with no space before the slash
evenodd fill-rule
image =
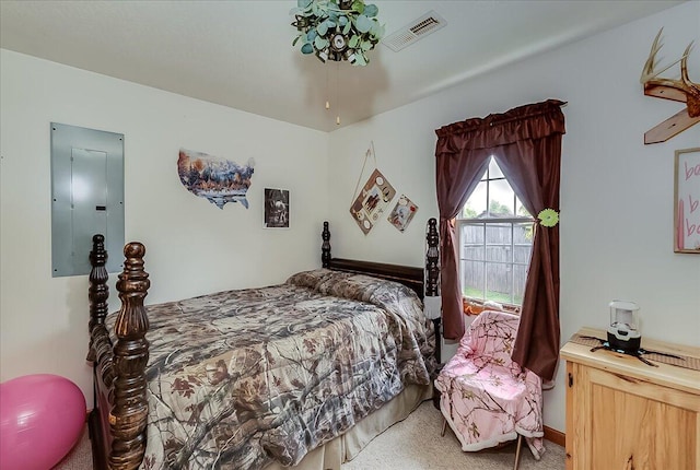
<path id="1" fill-rule="evenodd" d="M 145 396 L 149 343 L 145 332 L 149 318 L 143 298 L 151 283 L 148 272 L 143 270 L 144 254 L 145 247 L 140 243 L 129 243 L 124 247 L 124 272 L 117 282 L 121 309 L 115 324 L 114 401 L 109 413 L 114 438 L 109 454 L 110 469 L 137 469 L 145 453 L 149 411 Z"/>

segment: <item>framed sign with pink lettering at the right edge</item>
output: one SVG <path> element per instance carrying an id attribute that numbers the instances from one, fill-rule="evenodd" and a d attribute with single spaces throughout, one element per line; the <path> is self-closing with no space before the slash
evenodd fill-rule
<path id="1" fill-rule="evenodd" d="M 676 151 L 674 251 L 700 254 L 700 146 Z"/>

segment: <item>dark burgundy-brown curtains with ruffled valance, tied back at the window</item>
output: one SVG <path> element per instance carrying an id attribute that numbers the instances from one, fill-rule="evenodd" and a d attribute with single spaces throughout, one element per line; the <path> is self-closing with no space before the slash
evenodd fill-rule
<path id="1" fill-rule="evenodd" d="M 458 251 L 453 219 L 494 156 L 529 213 L 559 212 L 562 102 L 548 99 L 435 131 L 444 337 L 464 334 Z M 536 226 L 513 360 L 552 379 L 559 356 L 559 225 Z"/>

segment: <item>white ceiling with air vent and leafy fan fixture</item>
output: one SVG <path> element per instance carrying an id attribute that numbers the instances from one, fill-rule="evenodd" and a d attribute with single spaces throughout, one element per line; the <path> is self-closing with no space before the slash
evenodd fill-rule
<path id="1" fill-rule="evenodd" d="M 323 131 L 681 1 L 392 1 L 386 33 L 434 10 L 447 26 L 368 67 L 292 47 L 291 1 L 0 1 L 0 46 Z M 332 109 L 325 109 L 325 102 Z"/>

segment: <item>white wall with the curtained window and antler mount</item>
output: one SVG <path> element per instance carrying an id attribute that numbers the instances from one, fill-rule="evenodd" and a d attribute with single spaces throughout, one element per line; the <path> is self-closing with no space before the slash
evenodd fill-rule
<path id="1" fill-rule="evenodd" d="M 639 77 L 664 27 L 662 63 L 700 44 L 700 2 L 688 2 L 475 78 L 331 133 L 335 254 L 421 266 L 425 221 L 438 215 L 434 129 L 547 98 L 568 102 L 561 168 L 561 336 L 606 328 L 615 298 L 641 306 L 649 338 L 700 345 L 700 256 L 673 251 L 674 151 L 700 146 L 700 126 L 665 143 L 643 134 L 681 108 L 645 97 Z M 700 50 L 689 61 L 700 82 Z M 678 66 L 665 75 L 678 75 Z M 407 233 L 381 223 L 368 236 L 347 216 L 364 149 L 419 211 Z M 345 177 L 351 175 L 351 177 Z M 368 174 L 363 177 L 366 179 Z M 453 349 L 454 351 L 454 349 Z M 563 365 L 545 395 L 545 423 L 564 431 Z"/>

